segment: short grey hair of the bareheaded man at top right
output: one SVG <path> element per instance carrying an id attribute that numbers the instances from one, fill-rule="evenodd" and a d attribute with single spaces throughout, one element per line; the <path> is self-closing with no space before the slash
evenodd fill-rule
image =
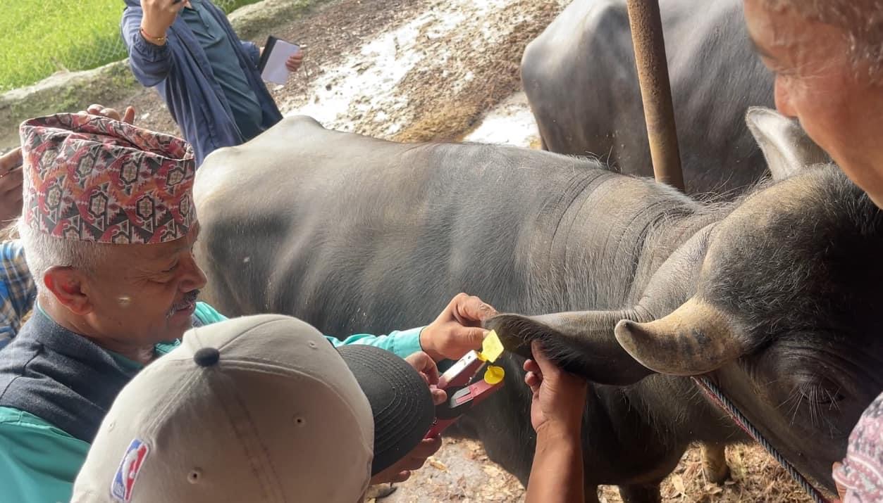
<path id="1" fill-rule="evenodd" d="M 879 81 L 883 67 L 883 0 L 765 0 L 774 11 L 791 9 L 804 18 L 834 26 L 846 36 L 853 70 L 868 65 Z M 857 77 L 861 77 L 856 73 Z"/>

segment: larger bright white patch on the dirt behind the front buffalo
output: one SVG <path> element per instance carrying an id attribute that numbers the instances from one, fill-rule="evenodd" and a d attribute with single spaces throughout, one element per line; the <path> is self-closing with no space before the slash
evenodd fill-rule
<path id="1" fill-rule="evenodd" d="M 426 45 L 467 24 L 482 26 L 481 33 L 487 41 L 501 40 L 516 23 L 493 26 L 482 19 L 511 3 L 512 0 L 450 0 L 436 4 L 434 9 L 358 48 L 339 66 L 322 69 L 306 95 L 283 100 L 279 107 L 283 115 L 310 115 L 326 128 L 342 131 L 352 131 L 354 122 L 369 111 L 381 110 L 374 116 L 374 122 L 382 125 L 379 136 L 395 135 L 408 123 L 406 116 L 394 113 L 408 105 L 408 91 L 398 87 L 399 82 L 427 57 L 434 58 L 428 63 L 443 64 L 455 56 L 428 51 Z M 439 84 L 462 86 L 464 82 Z"/>

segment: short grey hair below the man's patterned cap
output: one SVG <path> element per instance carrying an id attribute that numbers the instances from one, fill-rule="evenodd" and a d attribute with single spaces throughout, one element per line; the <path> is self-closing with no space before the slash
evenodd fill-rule
<path id="1" fill-rule="evenodd" d="M 107 255 L 107 245 L 91 241 L 65 240 L 34 231 L 19 218 L 19 239 L 25 248 L 25 261 L 31 270 L 37 291 L 42 291 L 43 277 L 52 267 L 72 267 L 93 272 Z"/>

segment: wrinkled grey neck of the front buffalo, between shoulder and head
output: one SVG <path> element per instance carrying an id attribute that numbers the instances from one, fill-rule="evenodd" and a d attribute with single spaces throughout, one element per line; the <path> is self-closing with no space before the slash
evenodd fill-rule
<path id="1" fill-rule="evenodd" d="M 634 307 L 668 257 L 730 210 L 652 179 L 598 174 L 563 211 L 551 237 L 549 262 L 558 291 L 566 293 L 562 308 Z"/>

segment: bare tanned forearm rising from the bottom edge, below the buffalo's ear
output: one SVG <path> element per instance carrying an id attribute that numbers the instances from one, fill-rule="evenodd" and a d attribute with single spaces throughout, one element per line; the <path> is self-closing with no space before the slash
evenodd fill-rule
<path id="1" fill-rule="evenodd" d="M 525 503 L 583 503 L 584 491 L 579 425 L 543 425 Z"/>

